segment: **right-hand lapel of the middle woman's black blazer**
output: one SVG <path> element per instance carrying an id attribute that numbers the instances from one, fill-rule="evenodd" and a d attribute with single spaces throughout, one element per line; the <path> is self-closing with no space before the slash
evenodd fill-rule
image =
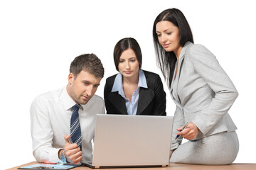
<path id="1" fill-rule="evenodd" d="M 145 88 L 140 88 L 139 89 L 139 102 L 138 102 L 138 108 L 137 108 L 137 115 L 142 114 L 144 109 L 149 105 L 149 103 L 153 100 L 154 98 L 154 91 L 151 89 L 145 89 Z"/>

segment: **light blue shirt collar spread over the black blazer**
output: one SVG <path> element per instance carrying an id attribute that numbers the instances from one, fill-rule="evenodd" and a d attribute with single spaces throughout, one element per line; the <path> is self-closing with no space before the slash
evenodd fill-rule
<path id="1" fill-rule="evenodd" d="M 138 87 L 143 87 L 143 88 L 148 88 L 147 84 L 146 84 L 146 77 L 144 72 L 142 71 L 142 69 L 139 69 L 139 83 L 138 83 Z M 122 87 L 122 74 L 119 73 L 117 74 L 117 76 L 114 79 L 114 84 L 112 87 L 111 92 L 114 91 L 122 91 L 123 87 Z"/>

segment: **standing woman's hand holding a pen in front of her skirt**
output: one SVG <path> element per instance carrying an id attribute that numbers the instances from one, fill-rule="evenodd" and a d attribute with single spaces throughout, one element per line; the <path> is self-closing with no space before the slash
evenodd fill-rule
<path id="1" fill-rule="evenodd" d="M 181 126 L 181 128 L 178 128 L 177 130 L 181 131 L 182 128 L 183 126 Z M 178 132 L 177 135 L 181 135 L 186 140 L 193 140 L 196 137 L 196 135 L 198 135 L 198 132 L 199 130 L 197 126 L 193 122 L 191 122 L 188 123 L 187 127 L 184 130 Z"/>

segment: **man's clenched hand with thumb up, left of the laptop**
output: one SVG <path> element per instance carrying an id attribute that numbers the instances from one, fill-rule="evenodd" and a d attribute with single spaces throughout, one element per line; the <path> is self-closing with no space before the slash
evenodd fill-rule
<path id="1" fill-rule="evenodd" d="M 64 135 L 65 139 L 65 156 L 68 159 L 68 162 L 73 164 L 80 164 L 82 160 L 82 151 L 80 151 L 80 147 L 76 143 L 70 144 L 68 141 L 70 135 Z"/>

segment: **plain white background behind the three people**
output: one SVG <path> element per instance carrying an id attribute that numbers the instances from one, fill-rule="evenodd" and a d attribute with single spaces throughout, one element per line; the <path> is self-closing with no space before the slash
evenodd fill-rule
<path id="1" fill-rule="evenodd" d="M 105 67 L 97 90 L 117 71 L 114 45 L 135 38 L 142 48 L 142 69 L 156 67 L 152 26 L 166 8 L 179 8 L 193 31 L 233 80 L 239 96 L 229 113 L 238 126 L 240 151 L 235 162 L 255 158 L 255 5 L 253 1 L 1 1 L 1 149 L 0 169 L 32 162 L 29 109 L 33 98 L 68 82 L 70 62 L 95 53 Z M 161 76 L 161 78 L 163 78 Z M 164 79 L 162 79 L 164 82 Z M 166 84 L 168 115 L 174 103 Z"/>

